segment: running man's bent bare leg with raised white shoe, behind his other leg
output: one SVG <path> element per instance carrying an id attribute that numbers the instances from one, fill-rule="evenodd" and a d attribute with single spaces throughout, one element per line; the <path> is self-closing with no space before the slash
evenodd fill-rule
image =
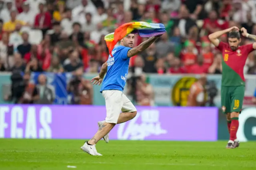
<path id="1" fill-rule="evenodd" d="M 122 112 L 122 113 L 119 115 L 119 117 L 118 117 L 117 124 L 130 121 L 130 120 L 132 120 L 136 115 L 137 115 L 137 111 L 135 111 L 135 112 Z M 98 122 L 99 130 L 100 130 L 100 128 L 102 128 L 102 126 L 104 125 L 104 123 L 106 123 L 106 122 L 105 122 L 105 121 Z M 103 137 L 103 139 L 105 140 L 106 143 L 108 143 L 108 137 L 109 137 L 109 133 L 106 134 L 106 135 Z"/>

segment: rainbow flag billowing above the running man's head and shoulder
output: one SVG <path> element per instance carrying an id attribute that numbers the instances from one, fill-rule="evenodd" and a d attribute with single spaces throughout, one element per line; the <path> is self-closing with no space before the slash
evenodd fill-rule
<path id="1" fill-rule="evenodd" d="M 148 22 L 129 22 L 116 28 L 115 32 L 105 36 L 104 40 L 108 46 L 110 55 L 117 42 L 128 34 L 139 34 L 141 37 L 152 37 L 162 35 L 166 32 L 164 24 L 153 24 Z M 113 57 L 113 56 L 112 56 Z"/>

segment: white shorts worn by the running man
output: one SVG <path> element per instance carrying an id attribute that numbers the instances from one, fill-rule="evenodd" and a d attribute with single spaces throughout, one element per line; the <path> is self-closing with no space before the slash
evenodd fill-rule
<path id="1" fill-rule="evenodd" d="M 104 90 L 102 95 L 106 102 L 107 123 L 117 123 L 120 112 L 135 112 L 137 111 L 132 102 L 126 95 L 119 90 Z"/>

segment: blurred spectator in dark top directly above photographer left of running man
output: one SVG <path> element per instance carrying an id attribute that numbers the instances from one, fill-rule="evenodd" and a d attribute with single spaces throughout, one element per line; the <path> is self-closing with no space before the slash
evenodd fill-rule
<path id="1" fill-rule="evenodd" d="M 80 61 L 80 59 L 78 58 L 78 52 L 71 50 L 69 52 L 69 57 L 68 59 L 65 60 L 64 63 L 64 70 L 66 72 L 73 72 L 76 70 L 83 70 L 83 64 Z"/>

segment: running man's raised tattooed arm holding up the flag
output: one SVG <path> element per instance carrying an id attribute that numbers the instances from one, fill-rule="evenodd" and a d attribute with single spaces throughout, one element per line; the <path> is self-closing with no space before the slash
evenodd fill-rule
<path id="1" fill-rule="evenodd" d="M 127 53 L 127 57 L 132 57 L 142 51 L 144 51 L 146 48 L 148 48 L 155 40 L 157 40 L 159 37 L 150 37 L 148 40 L 142 42 L 140 45 L 137 47 L 134 47 L 130 49 Z"/>

